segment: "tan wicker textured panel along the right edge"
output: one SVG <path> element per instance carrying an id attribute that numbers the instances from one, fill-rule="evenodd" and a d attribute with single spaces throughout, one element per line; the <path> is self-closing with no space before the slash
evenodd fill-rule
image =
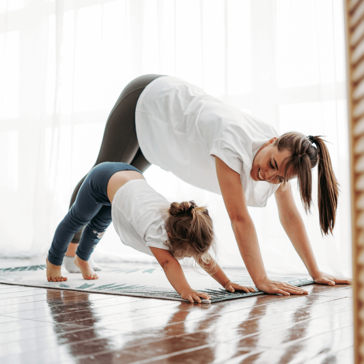
<path id="1" fill-rule="evenodd" d="M 364 0 L 345 1 L 355 363 L 364 362 Z"/>

